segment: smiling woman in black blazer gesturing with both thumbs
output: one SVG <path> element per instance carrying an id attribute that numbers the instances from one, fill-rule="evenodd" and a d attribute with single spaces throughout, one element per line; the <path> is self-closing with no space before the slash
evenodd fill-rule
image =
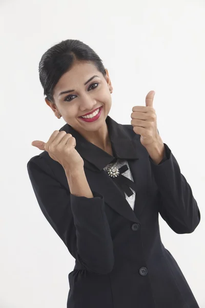
<path id="1" fill-rule="evenodd" d="M 27 164 L 43 214 L 75 258 L 69 308 L 197 308 L 160 239 L 158 215 L 192 233 L 200 212 L 163 143 L 153 109 L 134 106 L 131 125 L 109 117 L 113 87 L 99 56 L 77 40 L 51 47 L 39 63 L 45 101 L 66 125 Z M 92 114 L 86 117 L 86 114 Z"/>

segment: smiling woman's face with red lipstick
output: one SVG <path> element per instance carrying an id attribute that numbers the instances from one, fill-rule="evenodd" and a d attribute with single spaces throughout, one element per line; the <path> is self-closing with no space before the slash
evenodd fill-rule
<path id="1" fill-rule="evenodd" d="M 73 67 L 59 79 L 54 88 L 54 102 L 46 103 L 52 108 L 55 115 L 60 113 L 64 120 L 76 131 L 92 136 L 92 132 L 100 133 L 105 130 L 106 118 L 111 109 L 112 90 L 108 71 L 104 75 L 97 70 L 92 63 L 76 62 Z M 96 75 L 86 85 L 85 83 Z M 71 92 L 61 93 L 72 90 Z M 93 112 L 102 107 L 100 116 L 93 122 L 86 122 L 81 119 L 81 115 Z"/>

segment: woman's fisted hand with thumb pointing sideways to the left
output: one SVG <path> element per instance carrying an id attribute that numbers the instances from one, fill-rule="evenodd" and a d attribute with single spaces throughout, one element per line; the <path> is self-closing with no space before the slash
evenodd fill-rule
<path id="1" fill-rule="evenodd" d="M 70 133 L 62 130 L 54 130 L 48 142 L 35 140 L 31 145 L 36 146 L 40 150 L 46 150 L 49 156 L 60 163 L 64 169 L 84 167 L 84 160 L 76 151 L 75 138 Z"/>

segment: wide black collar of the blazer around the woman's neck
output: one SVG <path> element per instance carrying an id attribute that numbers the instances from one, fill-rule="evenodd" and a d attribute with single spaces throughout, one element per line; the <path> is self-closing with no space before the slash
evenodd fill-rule
<path id="1" fill-rule="evenodd" d="M 106 124 L 111 140 L 113 156 L 87 141 L 69 124 L 61 127 L 59 131 L 65 130 L 67 133 L 71 133 L 76 140 L 75 149 L 79 155 L 100 171 L 117 158 L 123 160 L 138 159 L 139 157 L 137 156 L 134 142 L 139 139 L 140 135 L 133 131 L 132 125 L 118 124 L 109 115 L 106 118 Z"/>

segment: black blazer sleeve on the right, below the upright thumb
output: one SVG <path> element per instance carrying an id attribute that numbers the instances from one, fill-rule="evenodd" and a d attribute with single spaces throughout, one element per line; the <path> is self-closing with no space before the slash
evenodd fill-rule
<path id="1" fill-rule="evenodd" d="M 175 233 L 192 233 L 200 222 L 200 211 L 173 153 L 164 145 L 166 158 L 160 164 L 155 164 L 149 156 L 159 189 L 159 213 Z"/>

